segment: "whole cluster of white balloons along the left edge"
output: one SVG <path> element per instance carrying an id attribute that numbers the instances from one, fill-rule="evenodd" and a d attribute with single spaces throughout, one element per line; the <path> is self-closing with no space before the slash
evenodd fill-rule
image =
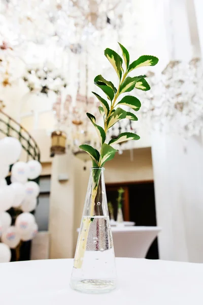
<path id="1" fill-rule="evenodd" d="M 37 206 L 40 187 L 35 181 L 40 176 L 42 166 L 36 160 L 17 162 L 22 150 L 21 143 L 13 137 L 0 140 L 0 263 L 11 260 L 11 250 L 18 246 L 20 240 L 27 241 L 35 237 L 38 225 L 30 213 Z M 11 169 L 11 184 L 5 177 Z M 7 212 L 11 207 L 21 210 L 15 224 Z"/>

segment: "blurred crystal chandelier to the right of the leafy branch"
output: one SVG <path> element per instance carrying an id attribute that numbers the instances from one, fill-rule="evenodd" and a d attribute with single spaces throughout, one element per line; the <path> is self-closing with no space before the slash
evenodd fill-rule
<path id="1" fill-rule="evenodd" d="M 161 76 L 148 73 L 152 89 L 146 92 L 138 116 L 148 131 L 199 135 L 203 127 L 203 69 L 200 58 L 173 60 Z M 139 98 L 143 100 L 142 92 Z"/>

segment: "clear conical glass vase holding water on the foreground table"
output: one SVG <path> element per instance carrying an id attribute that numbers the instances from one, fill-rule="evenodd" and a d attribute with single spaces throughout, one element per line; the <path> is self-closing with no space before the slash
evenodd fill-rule
<path id="1" fill-rule="evenodd" d="M 78 236 L 71 287 L 87 293 L 116 287 L 116 266 L 104 168 L 91 169 Z"/>

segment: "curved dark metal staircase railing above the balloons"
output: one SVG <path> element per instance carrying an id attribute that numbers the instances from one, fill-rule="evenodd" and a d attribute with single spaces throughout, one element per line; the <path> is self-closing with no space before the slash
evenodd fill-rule
<path id="1" fill-rule="evenodd" d="M 20 141 L 22 148 L 27 153 L 27 161 L 29 158 L 40 161 L 40 148 L 35 139 L 22 125 L 2 110 L 0 110 L 0 133 Z"/>

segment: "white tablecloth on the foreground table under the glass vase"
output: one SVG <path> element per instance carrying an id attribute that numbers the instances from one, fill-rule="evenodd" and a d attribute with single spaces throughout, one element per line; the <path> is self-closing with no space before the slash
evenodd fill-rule
<path id="1" fill-rule="evenodd" d="M 201 305 L 203 264 L 117 258 L 118 288 L 90 295 L 69 286 L 73 260 L 0 264 L 1 305 Z"/>

